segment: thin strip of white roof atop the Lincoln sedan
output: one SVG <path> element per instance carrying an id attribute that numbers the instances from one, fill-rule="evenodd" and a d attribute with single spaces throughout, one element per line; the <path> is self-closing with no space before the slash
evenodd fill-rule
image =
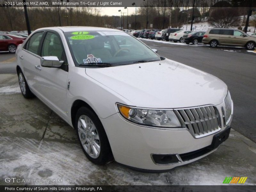
<path id="1" fill-rule="evenodd" d="M 83 27 L 83 26 L 69 26 L 69 27 L 45 27 L 39 28 L 37 30 L 56 30 L 60 29 L 63 32 L 71 32 L 71 31 L 119 31 L 118 29 L 110 29 L 110 28 L 102 28 L 102 27 Z"/>

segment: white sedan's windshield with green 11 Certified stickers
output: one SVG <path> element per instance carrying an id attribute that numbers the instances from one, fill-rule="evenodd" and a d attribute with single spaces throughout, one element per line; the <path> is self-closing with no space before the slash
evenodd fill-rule
<path id="1" fill-rule="evenodd" d="M 88 66 L 90 63 L 126 65 L 161 60 L 146 45 L 121 31 L 74 31 L 64 35 L 76 66 Z"/>

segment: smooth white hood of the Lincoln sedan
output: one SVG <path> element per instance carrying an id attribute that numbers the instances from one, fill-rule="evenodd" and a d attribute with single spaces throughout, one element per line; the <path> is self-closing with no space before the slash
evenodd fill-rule
<path id="1" fill-rule="evenodd" d="M 137 107 L 218 105 L 228 91 L 227 85 L 217 77 L 168 59 L 108 68 L 86 68 L 85 72 L 130 101 L 125 104 Z"/>

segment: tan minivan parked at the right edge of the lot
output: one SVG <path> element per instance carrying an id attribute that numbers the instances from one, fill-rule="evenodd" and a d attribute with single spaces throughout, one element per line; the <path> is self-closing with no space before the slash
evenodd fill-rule
<path id="1" fill-rule="evenodd" d="M 228 45 L 254 49 L 256 46 L 256 39 L 239 29 L 212 28 L 208 29 L 204 34 L 203 43 L 210 44 L 211 47 Z"/>

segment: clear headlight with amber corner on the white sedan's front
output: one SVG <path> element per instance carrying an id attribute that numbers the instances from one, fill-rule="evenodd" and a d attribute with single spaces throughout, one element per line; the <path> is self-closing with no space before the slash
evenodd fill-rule
<path id="1" fill-rule="evenodd" d="M 133 123 L 166 128 L 181 127 L 179 119 L 172 110 L 143 109 L 121 104 L 116 105 L 120 114 Z"/>

